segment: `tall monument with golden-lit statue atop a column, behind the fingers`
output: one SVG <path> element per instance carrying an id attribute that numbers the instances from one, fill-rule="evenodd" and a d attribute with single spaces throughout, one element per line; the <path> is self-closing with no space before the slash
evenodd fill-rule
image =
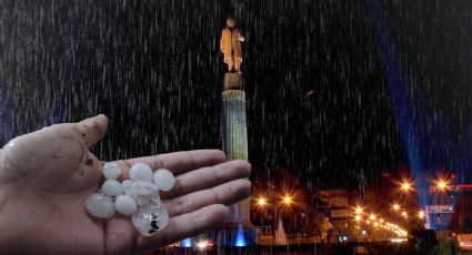
<path id="1" fill-rule="evenodd" d="M 220 49 L 224 54 L 228 72 L 222 92 L 221 135 L 228 160 L 248 160 L 248 128 L 245 119 L 245 93 L 241 73 L 241 42 L 244 37 L 235 20 L 229 18 L 221 33 Z M 219 233 L 219 247 L 251 246 L 255 232 L 250 222 L 250 198 L 230 206 L 230 218 Z"/>

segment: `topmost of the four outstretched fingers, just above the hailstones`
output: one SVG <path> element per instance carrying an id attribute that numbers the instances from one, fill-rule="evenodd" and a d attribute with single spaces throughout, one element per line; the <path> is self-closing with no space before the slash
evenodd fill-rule
<path id="1" fill-rule="evenodd" d="M 222 151 L 199 150 L 137 157 L 124 161 L 117 161 L 116 163 L 118 163 L 121 169 L 121 177 L 129 178 L 129 169 L 134 163 L 149 164 L 152 170 L 168 169 L 172 171 L 174 175 L 177 175 L 191 170 L 220 164 L 225 160 L 227 156 Z"/>

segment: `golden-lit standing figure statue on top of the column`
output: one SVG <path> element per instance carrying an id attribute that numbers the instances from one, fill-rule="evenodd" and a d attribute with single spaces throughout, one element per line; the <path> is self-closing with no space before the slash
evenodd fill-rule
<path id="1" fill-rule="evenodd" d="M 244 37 L 238 29 L 237 22 L 233 18 L 227 19 L 227 26 L 221 32 L 220 49 L 224 54 L 224 63 L 228 64 L 228 72 L 241 73 L 242 51 L 241 42 Z"/>

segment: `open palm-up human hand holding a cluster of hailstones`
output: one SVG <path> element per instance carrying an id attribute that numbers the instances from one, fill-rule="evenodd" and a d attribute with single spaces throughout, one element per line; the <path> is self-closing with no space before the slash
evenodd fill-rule
<path id="1" fill-rule="evenodd" d="M 220 151 L 190 151 L 121 160 L 122 177 L 135 162 L 177 175 L 162 194 L 171 220 L 150 237 L 129 217 L 91 217 L 87 197 L 98 191 L 101 162 L 88 147 L 106 133 L 107 118 L 58 124 L 19 136 L 0 151 L 0 253 L 130 254 L 158 248 L 223 222 L 225 205 L 250 194 L 250 165 L 225 162 Z"/>

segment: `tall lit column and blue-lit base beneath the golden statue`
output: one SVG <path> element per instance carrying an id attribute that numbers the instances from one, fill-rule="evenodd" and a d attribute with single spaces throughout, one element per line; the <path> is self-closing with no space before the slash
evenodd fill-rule
<path id="1" fill-rule="evenodd" d="M 224 76 L 221 135 L 228 160 L 248 160 L 248 128 L 245 121 L 245 93 L 239 73 Z M 250 222 L 250 198 L 230 206 L 230 217 L 219 235 L 219 247 L 255 245 L 255 230 Z"/>

